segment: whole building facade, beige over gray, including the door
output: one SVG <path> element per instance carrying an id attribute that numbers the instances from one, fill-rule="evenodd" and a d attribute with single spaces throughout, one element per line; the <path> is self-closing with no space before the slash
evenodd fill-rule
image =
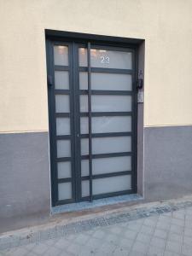
<path id="1" fill-rule="evenodd" d="M 191 10 L 0 0 L 3 231 L 58 205 L 192 193 Z"/>

